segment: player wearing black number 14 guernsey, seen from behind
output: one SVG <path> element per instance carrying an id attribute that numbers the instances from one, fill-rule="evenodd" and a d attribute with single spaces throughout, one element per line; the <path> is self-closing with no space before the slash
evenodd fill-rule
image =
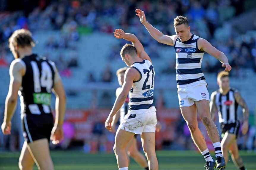
<path id="1" fill-rule="evenodd" d="M 35 43 L 28 30 L 16 30 L 9 38 L 9 47 L 15 58 L 10 66 L 10 87 L 5 101 L 4 135 L 11 133 L 11 119 L 20 96 L 23 144 L 19 168 L 32 170 L 34 162 L 38 169 L 53 170 L 49 140 L 53 144 L 63 139 L 63 119 L 66 95 L 52 61 L 32 53 Z M 51 93 L 56 95 L 56 119 L 50 110 Z"/>

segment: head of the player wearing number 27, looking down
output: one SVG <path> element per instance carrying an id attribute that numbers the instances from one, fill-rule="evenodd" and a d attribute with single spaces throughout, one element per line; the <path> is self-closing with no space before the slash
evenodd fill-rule
<path id="1" fill-rule="evenodd" d="M 121 49 L 120 55 L 128 67 L 132 65 L 131 60 L 138 57 L 136 48 L 131 44 L 125 44 Z"/>

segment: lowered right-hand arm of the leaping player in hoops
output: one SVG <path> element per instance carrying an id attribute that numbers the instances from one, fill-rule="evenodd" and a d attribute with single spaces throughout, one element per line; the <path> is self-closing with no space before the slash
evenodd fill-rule
<path id="1" fill-rule="evenodd" d="M 209 43 L 203 38 L 200 38 L 197 40 L 197 45 L 199 50 L 205 51 L 208 54 L 217 58 L 222 63 L 222 67 L 226 67 L 224 71 L 229 72 L 232 69 L 228 63 L 227 56 L 225 56 L 224 53 L 222 53 L 221 51 L 217 50 L 217 48 L 212 46 L 211 43 Z"/>

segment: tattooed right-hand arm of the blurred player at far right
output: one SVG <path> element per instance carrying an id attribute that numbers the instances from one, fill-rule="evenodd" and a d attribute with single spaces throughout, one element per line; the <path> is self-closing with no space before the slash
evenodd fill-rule
<path id="1" fill-rule="evenodd" d="M 236 90 L 235 93 L 236 102 L 243 108 L 243 124 L 242 124 L 242 133 L 246 134 L 248 131 L 248 118 L 249 118 L 249 110 L 247 104 L 245 103 L 244 99 L 240 95 L 240 93 Z"/>

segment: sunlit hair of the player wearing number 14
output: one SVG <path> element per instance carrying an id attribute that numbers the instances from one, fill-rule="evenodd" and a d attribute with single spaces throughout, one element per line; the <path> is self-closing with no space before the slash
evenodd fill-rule
<path id="1" fill-rule="evenodd" d="M 20 47 L 34 47 L 35 42 L 32 38 L 32 33 L 29 30 L 19 29 L 14 31 L 14 33 L 9 38 L 9 48 L 11 51 L 15 46 Z"/>

